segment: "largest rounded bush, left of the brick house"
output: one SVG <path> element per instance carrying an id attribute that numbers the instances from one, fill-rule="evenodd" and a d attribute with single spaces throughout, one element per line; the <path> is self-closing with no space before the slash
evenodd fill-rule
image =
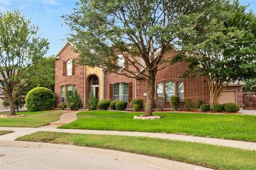
<path id="1" fill-rule="evenodd" d="M 26 107 L 29 112 L 50 110 L 54 103 L 54 93 L 45 87 L 36 87 L 26 96 Z"/>

